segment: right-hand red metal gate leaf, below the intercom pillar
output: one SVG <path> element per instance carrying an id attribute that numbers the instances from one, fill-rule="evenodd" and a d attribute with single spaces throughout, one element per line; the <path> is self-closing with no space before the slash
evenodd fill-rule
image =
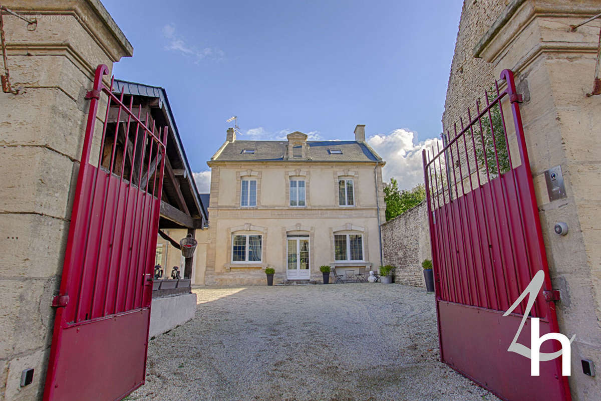
<path id="1" fill-rule="evenodd" d="M 505 400 L 570 400 L 561 359 L 542 362 L 508 352 L 524 313 L 540 317 L 540 335 L 558 332 L 538 209 L 513 73 L 460 119 L 453 139 L 423 152 L 436 284 L 441 360 Z M 511 109 L 511 112 L 509 112 Z M 513 124 L 505 115 L 513 114 Z M 449 134 L 449 132 L 447 132 Z M 450 138 L 450 136 L 448 136 Z M 502 317 L 537 271 L 543 291 L 531 311 L 527 298 Z M 528 319 L 519 343 L 530 346 Z M 546 341 L 542 352 L 559 350 Z"/>

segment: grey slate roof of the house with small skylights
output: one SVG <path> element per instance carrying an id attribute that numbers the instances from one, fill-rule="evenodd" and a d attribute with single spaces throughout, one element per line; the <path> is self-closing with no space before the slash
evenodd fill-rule
<path id="1" fill-rule="evenodd" d="M 288 141 L 234 141 L 213 161 L 314 161 L 314 162 L 376 162 L 382 161 L 370 147 L 356 141 L 307 141 L 307 159 L 285 159 Z M 255 153 L 242 153 L 254 149 Z M 328 149 L 340 149 L 341 155 L 330 154 Z"/>

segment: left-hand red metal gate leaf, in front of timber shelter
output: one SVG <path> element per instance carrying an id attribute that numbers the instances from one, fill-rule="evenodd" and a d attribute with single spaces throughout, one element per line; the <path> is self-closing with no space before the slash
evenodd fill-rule
<path id="1" fill-rule="evenodd" d="M 53 299 L 48 401 L 119 400 L 144 384 L 167 128 L 159 138 L 133 97 L 115 96 L 112 80 L 110 88 L 103 84 L 106 74 L 98 66 L 87 96 L 63 277 Z M 105 122 L 95 130 L 101 98 L 108 102 Z"/>

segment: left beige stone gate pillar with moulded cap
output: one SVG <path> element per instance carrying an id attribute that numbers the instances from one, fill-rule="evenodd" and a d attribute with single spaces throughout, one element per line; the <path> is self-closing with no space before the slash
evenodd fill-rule
<path id="1" fill-rule="evenodd" d="M 84 96 L 98 64 L 112 70 L 133 49 L 99 0 L 0 4 L 37 20 L 31 30 L 2 16 L 11 85 L 22 89 L 0 93 L 0 399 L 37 400 L 87 121 Z M 20 387 L 27 368 L 34 381 Z"/>

